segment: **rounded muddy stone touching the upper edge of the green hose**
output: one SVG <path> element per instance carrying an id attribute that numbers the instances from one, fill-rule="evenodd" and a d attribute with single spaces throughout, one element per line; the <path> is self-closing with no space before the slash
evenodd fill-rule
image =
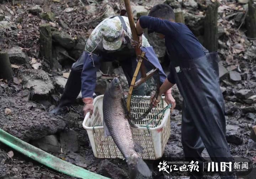
<path id="1" fill-rule="evenodd" d="M 55 135 L 47 135 L 41 139 L 31 142 L 32 145 L 46 152 L 61 153 L 61 145 Z"/>

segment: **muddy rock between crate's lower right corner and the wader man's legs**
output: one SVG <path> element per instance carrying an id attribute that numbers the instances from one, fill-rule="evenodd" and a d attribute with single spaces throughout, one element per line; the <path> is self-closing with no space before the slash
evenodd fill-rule
<path id="1" fill-rule="evenodd" d="M 184 155 L 183 149 L 177 146 L 177 142 L 172 142 L 172 144 L 167 144 L 163 153 L 163 157 L 181 157 L 183 155 Z"/>

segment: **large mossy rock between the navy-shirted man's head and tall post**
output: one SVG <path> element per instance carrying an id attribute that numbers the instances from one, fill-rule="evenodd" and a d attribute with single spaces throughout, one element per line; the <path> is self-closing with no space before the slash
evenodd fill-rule
<path id="1" fill-rule="evenodd" d="M 185 24 L 193 32 L 195 36 L 204 34 L 204 15 L 194 15 L 188 12 L 184 12 Z"/>

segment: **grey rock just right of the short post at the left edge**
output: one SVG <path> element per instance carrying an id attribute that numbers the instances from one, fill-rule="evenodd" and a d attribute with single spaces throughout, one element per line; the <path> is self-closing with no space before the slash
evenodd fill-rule
<path id="1" fill-rule="evenodd" d="M 11 47 L 7 50 L 10 62 L 12 64 L 22 65 L 25 63 L 29 63 L 28 56 L 22 52 L 19 46 Z"/>

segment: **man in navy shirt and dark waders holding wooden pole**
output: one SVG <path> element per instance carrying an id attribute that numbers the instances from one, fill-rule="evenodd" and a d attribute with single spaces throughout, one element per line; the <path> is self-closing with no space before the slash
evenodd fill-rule
<path id="1" fill-rule="evenodd" d="M 224 99 L 219 86 L 218 53 L 205 49 L 183 23 L 175 22 L 172 8 L 166 4 L 152 7 L 148 16 L 141 16 L 137 33 L 148 28 L 165 39 L 170 60 L 169 75 L 160 87 L 160 96 L 174 84 L 183 97 L 182 145 L 187 160 L 198 161 L 200 172 L 190 179 L 202 178 L 202 151 L 206 147 L 215 162 L 232 161 L 225 138 Z M 140 38 L 141 40 L 141 38 Z M 220 166 L 220 163 L 218 163 Z M 220 168 L 219 168 L 220 171 Z M 220 172 L 222 179 L 234 179 L 234 173 Z"/>

